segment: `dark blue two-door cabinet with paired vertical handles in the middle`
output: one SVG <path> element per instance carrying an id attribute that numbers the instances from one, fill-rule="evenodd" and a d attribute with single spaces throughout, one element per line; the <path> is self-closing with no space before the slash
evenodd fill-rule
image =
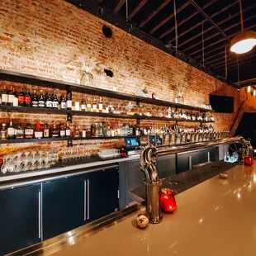
<path id="1" fill-rule="evenodd" d="M 43 183 L 43 239 L 118 210 L 118 189 L 118 168 Z"/>

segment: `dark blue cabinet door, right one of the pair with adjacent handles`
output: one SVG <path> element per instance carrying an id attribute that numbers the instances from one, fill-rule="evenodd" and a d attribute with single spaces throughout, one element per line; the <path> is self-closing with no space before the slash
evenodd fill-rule
<path id="1" fill-rule="evenodd" d="M 86 174 L 87 221 L 97 220 L 119 209 L 118 168 Z"/>

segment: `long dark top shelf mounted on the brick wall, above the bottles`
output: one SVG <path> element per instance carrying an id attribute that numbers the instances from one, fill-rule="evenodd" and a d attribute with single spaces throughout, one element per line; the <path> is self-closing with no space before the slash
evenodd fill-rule
<path id="1" fill-rule="evenodd" d="M 102 97 L 113 97 L 121 100 L 127 100 L 131 102 L 143 102 L 147 104 L 152 104 L 156 106 L 163 107 L 175 107 L 179 109 L 187 109 L 192 111 L 201 112 L 212 112 L 212 110 L 195 107 L 190 105 L 179 104 L 175 102 L 168 102 L 158 99 L 153 99 L 149 97 L 140 97 L 135 95 L 130 95 L 122 92 L 113 92 L 111 90 L 105 90 L 102 88 L 92 88 L 89 86 L 84 86 L 78 83 L 64 82 L 60 80 L 55 80 L 51 78 L 42 78 L 39 76 L 34 76 L 26 73 L 17 73 L 5 69 L 0 69 L 0 80 L 10 81 L 15 83 L 27 83 L 31 85 L 43 86 L 46 88 L 58 88 L 61 90 L 71 89 L 73 92 L 83 92 L 92 95 L 102 96 Z"/>

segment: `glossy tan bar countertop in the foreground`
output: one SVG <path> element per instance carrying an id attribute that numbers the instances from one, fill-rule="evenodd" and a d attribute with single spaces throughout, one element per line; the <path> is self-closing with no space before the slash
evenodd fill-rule
<path id="1" fill-rule="evenodd" d="M 139 230 L 132 214 L 96 234 L 70 237 L 51 255 L 256 255 L 256 167 L 227 173 L 178 194 L 177 211 L 158 225 Z"/>

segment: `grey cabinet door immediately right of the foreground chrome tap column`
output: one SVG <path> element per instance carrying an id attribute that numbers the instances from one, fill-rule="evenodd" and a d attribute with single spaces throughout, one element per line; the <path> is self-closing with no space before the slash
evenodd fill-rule
<path id="1" fill-rule="evenodd" d="M 176 174 L 176 155 L 167 154 L 157 158 L 157 170 L 159 178 L 166 178 Z"/>

